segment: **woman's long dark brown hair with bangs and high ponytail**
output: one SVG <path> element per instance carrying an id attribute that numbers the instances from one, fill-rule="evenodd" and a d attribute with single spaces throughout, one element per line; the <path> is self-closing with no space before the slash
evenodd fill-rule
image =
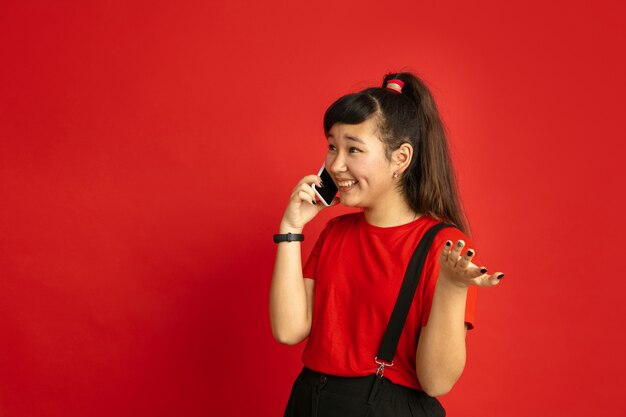
<path id="1" fill-rule="evenodd" d="M 404 83 L 399 94 L 389 80 Z M 407 203 L 469 234 L 457 191 L 445 129 L 426 84 L 411 73 L 387 74 L 382 87 L 368 88 L 335 101 L 324 114 L 324 132 L 336 123 L 359 124 L 376 117 L 387 158 L 402 144 L 413 147 L 413 159 L 401 178 Z"/>

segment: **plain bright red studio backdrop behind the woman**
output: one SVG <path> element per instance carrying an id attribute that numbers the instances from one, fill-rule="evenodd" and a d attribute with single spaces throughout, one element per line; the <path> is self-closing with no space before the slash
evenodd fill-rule
<path id="1" fill-rule="evenodd" d="M 267 298 L 340 95 L 410 69 L 480 290 L 450 416 L 624 415 L 618 1 L 0 3 L 0 416 L 278 416 Z M 305 230 L 305 256 L 332 216 Z"/>

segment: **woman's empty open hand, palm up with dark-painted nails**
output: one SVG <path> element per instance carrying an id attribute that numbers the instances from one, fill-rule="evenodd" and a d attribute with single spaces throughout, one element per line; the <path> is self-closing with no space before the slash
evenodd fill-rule
<path id="1" fill-rule="evenodd" d="M 462 240 L 456 242 L 454 246 L 451 241 L 446 242 L 439 257 L 440 275 L 460 287 L 498 285 L 504 274 L 502 272 L 487 274 L 487 268 L 472 263 L 476 252 L 473 249 L 464 250 L 464 247 L 465 242 Z"/>

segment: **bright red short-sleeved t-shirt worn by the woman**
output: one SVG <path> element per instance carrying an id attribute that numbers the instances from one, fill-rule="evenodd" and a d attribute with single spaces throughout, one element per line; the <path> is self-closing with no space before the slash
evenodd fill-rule
<path id="1" fill-rule="evenodd" d="M 304 267 L 315 280 L 313 324 L 302 361 L 318 372 L 365 376 L 376 372 L 374 357 L 387 328 L 406 267 L 424 233 L 437 220 L 422 216 L 395 227 L 367 223 L 362 212 L 336 217 L 326 228 Z M 421 389 L 415 374 L 419 332 L 428 322 L 439 253 L 446 240 L 467 236 L 455 228 L 441 230 L 426 258 L 415 299 L 398 343 L 394 366 L 385 369 L 391 381 Z M 468 290 L 465 322 L 474 323 L 476 287 Z"/>

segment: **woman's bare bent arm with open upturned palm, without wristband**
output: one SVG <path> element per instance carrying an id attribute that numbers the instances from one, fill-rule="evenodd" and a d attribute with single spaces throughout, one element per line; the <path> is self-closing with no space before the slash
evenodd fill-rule
<path id="1" fill-rule="evenodd" d="M 446 242 L 439 259 L 440 271 L 435 285 L 428 323 L 417 344 L 416 372 L 424 392 L 435 397 L 447 394 L 465 367 L 465 301 L 470 285 L 497 285 L 500 273 L 487 275 L 475 266 L 473 250 L 461 256 L 464 242 L 452 249 Z"/>

